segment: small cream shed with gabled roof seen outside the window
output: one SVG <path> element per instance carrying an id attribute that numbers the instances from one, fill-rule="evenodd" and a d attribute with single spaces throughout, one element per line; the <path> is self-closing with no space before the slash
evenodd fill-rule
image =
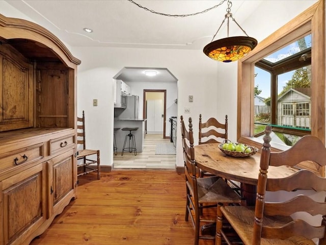
<path id="1" fill-rule="evenodd" d="M 290 88 L 278 99 L 278 125 L 311 129 L 311 88 Z"/>

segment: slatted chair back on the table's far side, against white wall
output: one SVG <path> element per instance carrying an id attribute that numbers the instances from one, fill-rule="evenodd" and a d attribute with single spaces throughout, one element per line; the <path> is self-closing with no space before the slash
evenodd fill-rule
<path id="1" fill-rule="evenodd" d="M 216 118 L 209 118 L 202 122 L 202 114 L 199 115 L 199 144 L 222 143 L 228 139 L 228 115 L 225 115 L 225 122 L 222 124 Z"/>

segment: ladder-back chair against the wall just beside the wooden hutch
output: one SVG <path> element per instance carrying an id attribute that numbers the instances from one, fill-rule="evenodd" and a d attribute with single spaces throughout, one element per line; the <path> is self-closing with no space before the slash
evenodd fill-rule
<path id="1" fill-rule="evenodd" d="M 83 111 L 83 117 L 77 117 L 77 150 L 81 148 L 77 152 L 77 176 L 82 176 L 97 171 L 97 179 L 99 180 L 101 173 L 100 150 L 86 149 L 85 135 L 85 112 Z M 91 164 L 97 164 L 97 167 L 90 166 Z"/>

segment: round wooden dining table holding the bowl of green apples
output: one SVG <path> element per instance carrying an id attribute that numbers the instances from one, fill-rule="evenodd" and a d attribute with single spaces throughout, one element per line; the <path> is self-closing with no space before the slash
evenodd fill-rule
<path id="1" fill-rule="evenodd" d="M 225 179 L 242 183 L 243 198 L 247 205 L 255 205 L 260 153 L 246 157 L 232 157 L 219 149 L 219 143 L 195 146 L 195 159 L 199 168 Z M 268 168 L 268 178 L 284 178 L 298 171 L 289 166 Z"/>

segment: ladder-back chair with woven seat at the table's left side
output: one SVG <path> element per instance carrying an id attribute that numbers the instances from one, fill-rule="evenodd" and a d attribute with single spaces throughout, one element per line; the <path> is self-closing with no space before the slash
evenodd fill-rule
<path id="1" fill-rule="evenodd" d="M 200 234 L 201 224 L 216 222 L 216 216 L 205 217 L 203 209 L 217 207 L 219 202 L 224 204 L 240 204 L 239 195 L 221 178 L 198 178 L 199 170 L 195 161 L 194 137 L 192 118 L 189 118 L 189 130 L 186 129 L 183 116 L 181 116 L 181 136 L 183 147 L 185 183 L 186 183 L 186 210 L 185 220 L 190 217 L 195 230 L 194 244 L 199 239 L 215 240 L 214 235 Z"/>

